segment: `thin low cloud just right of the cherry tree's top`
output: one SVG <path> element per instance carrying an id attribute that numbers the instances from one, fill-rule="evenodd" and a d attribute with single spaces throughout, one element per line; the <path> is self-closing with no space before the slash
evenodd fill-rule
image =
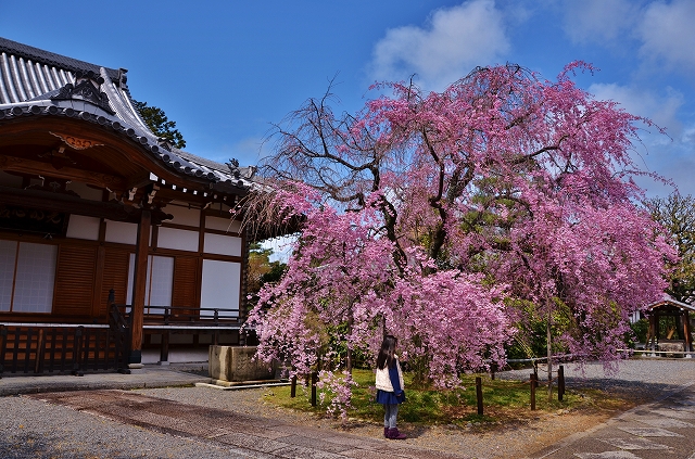
<path id="1" fill-rule="evenodd" d="M 684 103 L 684 97 L 673 89 L 669 88 L 665 95 L 658 97 L 634 86 L 594 84 L 589 92 L 597 100 L 618 102 L 627 112 L 652 119 L 659 127 L 666 128 L 671 137 L 680 136 L 683 131 L 678 111 Z"/>

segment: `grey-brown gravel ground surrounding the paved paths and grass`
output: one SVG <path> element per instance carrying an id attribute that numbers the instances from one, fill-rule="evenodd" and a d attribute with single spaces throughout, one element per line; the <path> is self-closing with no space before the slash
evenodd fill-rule
<path id="1" fill-rule="evenodd" d="M 582 372 L 583 371 L 583 377 Z M 601 387 L 631 397 L 635 403 L 661 398 L 683 384 L 695 381 L 693 359 L 634 359 L 621 364 L 620 371 L 606 377 L 601 365 L 576 371 L 566 365 L 567 388 Z M 529 370 L 497 373 L 501 379 L 526 380 Z M 543 369 L 540 369 L 543 379 Z M 346 424 L 308 413 L 279 409 L 268 403 L 270 390 L 218 391 L 203 387 L 153 388 L 143 395 L 271 417 L 298 425 L 338 429 L 356 435 L 380 437 L 380 425 L 354 420 Z M 617 413 L 612 413 L 617 415 Z M 410 435 L 406 442 L 420 447 L 457 451 L 473 458 L 520 458 L 556 443 L 571 433 L 604 422 L 610 415 L 567 412 L 541 413 L 504 429 L 478 432 L 454 426 L 415 428 L 402 425 Z M 88 412 L 47 405 L 24 397 L 0 398 L 0 458 L 39 459 L 130 459 L 241 457 L 233 450 L 204 441 L 192 441 L 124 425 Z"/>

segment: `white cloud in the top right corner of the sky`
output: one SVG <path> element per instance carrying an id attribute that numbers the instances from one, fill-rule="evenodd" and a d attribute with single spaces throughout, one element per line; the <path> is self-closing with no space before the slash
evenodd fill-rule
<path id="1" fill-rule="evenodd" d="M 639 33 L 643 58 L 668 66 L 695 68 L 695 2 L 654 2 L 644 13 Z"/>

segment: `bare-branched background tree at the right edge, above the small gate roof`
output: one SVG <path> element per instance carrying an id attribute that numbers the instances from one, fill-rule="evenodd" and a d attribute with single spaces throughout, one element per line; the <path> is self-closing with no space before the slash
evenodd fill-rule
<path id="1" fill-rule="evenodd" d="M 679 193 L 646 201 L 652 217 L 666 231 L 678 252 L 677 263 L 668 263 L 669 285 L 673 299 L 691 304 L 695 299 L 695 199 Z"/>

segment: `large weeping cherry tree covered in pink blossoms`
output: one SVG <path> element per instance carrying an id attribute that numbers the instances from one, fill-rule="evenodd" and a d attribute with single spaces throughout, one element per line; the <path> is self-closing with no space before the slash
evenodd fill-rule
<path id="1" fill-rule="evenodd" d="M 245 218 L 299 238 L 250 316 L 258 356 L 330 373 L 339 393 L 352 382 L 334 371 L 392 333 L 417 383 L 455 386 L 504 365 L 525 320 L 515 305 L 532 303 L 567 311 L 558 346 L 617 358 L 672 251 L 634 204 L 630 152 L 652 123 L 578 88 L 578 68 L 591 71 L 477 68 L 443 92 L 378 85 L 392 95 L 355 115 L 336 115 L 328 92 L 278 125 Z"/>

